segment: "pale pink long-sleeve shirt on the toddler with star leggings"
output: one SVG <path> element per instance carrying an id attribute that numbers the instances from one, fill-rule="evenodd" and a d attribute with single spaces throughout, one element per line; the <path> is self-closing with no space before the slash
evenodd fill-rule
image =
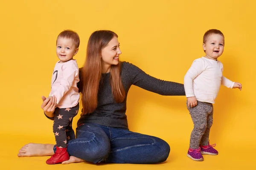
<path id="1" fill-rule="evenodd" d="M 79 102 L 77 83 L 79 68 L 76 60 L 55 64 L 52 74 L 52 89 L 49 96 L 57 98 L 58 108 L 72 108 Z"/>

